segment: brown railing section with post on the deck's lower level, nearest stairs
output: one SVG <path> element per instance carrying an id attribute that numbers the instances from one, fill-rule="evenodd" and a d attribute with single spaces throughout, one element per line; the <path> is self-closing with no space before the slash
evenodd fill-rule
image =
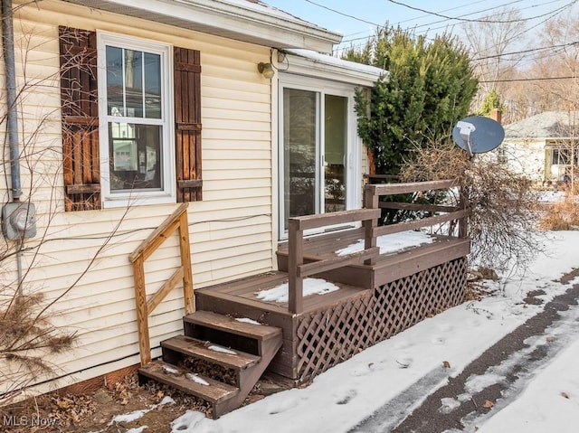
<path id="1" fill-rule="evenodd" d="M 331 224 L 343 224 L 347 222 L 363 221 L 368 223 L 377 221 L 380 217 L 380 209 L 356 209 L 353 211 L 341 211 L 321 213 L 318 215 L 306 215 L 289 219 L 288 233 L 288 278 L 289 278 L 289 311 L 301 313 L 303 310 L 303 278 L 318 272 L 335 268 L 342 268 L 348 264 L 358 262 L 361 259 L 373 259 L 379 254 L 375 248 L 375 240 L 369 235 L 372 231 L 366 231 L 364 251 L 342 258 L 321 259 L 315 263 L 304 264 L 304 230 L 317 229 Z"/>

